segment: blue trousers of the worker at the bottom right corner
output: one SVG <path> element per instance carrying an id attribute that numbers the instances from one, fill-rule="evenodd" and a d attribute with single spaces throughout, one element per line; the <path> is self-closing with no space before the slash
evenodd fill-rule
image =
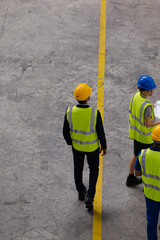
<path id="1" fill-rule="evenodd" d="M 157 224 L 160 202 L 153 201 L 147 197 L 145 197 L 145 199 L 147 207 L 147 237 L 148 240 L 157 240 Z"/>

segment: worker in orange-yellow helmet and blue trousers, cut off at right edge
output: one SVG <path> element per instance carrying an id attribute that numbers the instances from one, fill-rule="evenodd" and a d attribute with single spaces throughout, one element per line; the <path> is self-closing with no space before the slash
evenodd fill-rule
<path id="1" fill-rule="evenodd" d="M 154 127 L 153 146 L 142 150 L 135 163 L 135 174 L 142 175 L 147 208 L 148 240 L 157 240 L 157 224 L 160 211 L 160 125 Z"/>

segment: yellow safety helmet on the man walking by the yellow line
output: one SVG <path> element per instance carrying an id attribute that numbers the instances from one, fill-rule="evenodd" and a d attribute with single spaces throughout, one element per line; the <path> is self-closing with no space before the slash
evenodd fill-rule
<path id="1" fill-rule="evenodd" d="M 74 90 L 74 97 L 78 101 L 85 101 L 92 92 L 92 88 L 90 88 L 86 83 L 79 84 Z"/>

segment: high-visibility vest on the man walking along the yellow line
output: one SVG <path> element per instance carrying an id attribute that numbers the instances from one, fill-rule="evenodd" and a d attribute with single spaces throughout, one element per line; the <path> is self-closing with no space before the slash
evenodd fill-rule
<path id="1" fill-rule="evenodd" d="M 92 107 L 67 109 L 72 146 L 78 151 L 92 152 L 99 147 L 96 132 L 97 110 Z"/>

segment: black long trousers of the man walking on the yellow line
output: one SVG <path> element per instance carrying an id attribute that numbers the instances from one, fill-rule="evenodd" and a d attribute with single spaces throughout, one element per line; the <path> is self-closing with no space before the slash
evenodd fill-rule
<path id="1" fill-rule="evenodd" d="M 81 152 L 72 147 L 74 160 L 74 180 L 78 192 L 82 191 L 85 186 L 83 184 L 83 167 L 84 158 L 87 156 L 89 166 L 89 188 L 87 197 L 94 198 L 96 192 L 96 183 L 99 172 L 99 148 L 93 152 Z"/>

